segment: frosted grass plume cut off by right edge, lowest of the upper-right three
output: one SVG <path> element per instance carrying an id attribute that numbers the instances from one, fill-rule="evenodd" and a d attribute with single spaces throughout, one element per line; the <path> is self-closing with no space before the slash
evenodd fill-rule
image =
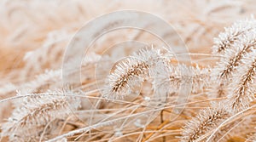
<path id="1" fill-rule="evenodd" d="M 237 68 L 238 73 L 234 77 L 236 82 L 230 83 L 230 109 L 231 111 L 241 111 L 249 106 L 255 94 L 254 81 L 256 77 L 256 52 L 247 55 L 247 59 L 242 60 L 244 65 Z"/>

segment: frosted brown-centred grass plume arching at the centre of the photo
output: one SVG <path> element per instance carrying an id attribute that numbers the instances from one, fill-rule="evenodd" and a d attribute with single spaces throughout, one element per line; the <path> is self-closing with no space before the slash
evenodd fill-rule
<path id="1" fill-rule="evenodd" d="M 122 60 L 105 82 L 102 91 L 108 99 L 122 99 L 148 77 L 148 70 L 160 58 L 160 50 L 142 49 Z"/>

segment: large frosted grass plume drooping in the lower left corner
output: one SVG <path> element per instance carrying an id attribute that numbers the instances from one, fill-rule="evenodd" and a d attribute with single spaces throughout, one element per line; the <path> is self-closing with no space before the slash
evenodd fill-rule
<path id="1" fill-rule="evenodd" d="M 3 123 L 2 136 L 9 136 L 11 141 L 34 139 L 40 137 L 49 122 L 65 119 L 79 107 L 79 99 L 65 97 L 71 91 L 50 92 L 55 95 L 32 95 L 23 99 L 22 105 L 13 111 L 8 122 Z M 18 94 L 20 95 L 20 94 Z"/>

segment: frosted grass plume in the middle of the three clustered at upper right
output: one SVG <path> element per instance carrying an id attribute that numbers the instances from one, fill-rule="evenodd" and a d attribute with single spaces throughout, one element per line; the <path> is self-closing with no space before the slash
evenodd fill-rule
<path id="1" fill-rule="evenodd" d="M 244 62 L 241 60 L 243 60 L 247 54 L 253 52 L 256 45 L 255 33 L 255 29 L 252 28 L 250 31 L 247 31 L 247 33 L 241 35 L 236 42 L 230 45 L 230 48 L 224 51 L 224 57 L 220 59 L 218 65 L 212 70 L 211 77 L 214 82 L 211 94 L 215 94 L 216 97 L 224 97 L 227 95 L 227 85 L 229 82 L 232 82 L 231 78 L 233 76 L 237 76 L 237 67 L 244 65 Z"/>

